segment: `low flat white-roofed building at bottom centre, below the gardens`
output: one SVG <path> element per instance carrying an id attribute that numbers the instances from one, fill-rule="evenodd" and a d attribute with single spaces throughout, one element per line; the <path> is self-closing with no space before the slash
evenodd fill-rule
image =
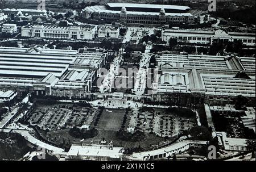
<path id="1" fill-rule="evenodd" d="M 123 150 L 112 145 L 72 145 L 65 160 L 122 160 Z"/>

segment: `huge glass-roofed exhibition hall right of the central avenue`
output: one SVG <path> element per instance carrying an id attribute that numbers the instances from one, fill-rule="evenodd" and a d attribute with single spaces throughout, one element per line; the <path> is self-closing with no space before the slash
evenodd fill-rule
<path id="1" fill-rule="evenodd" d="M 255 103 L 254 57 L 158 54 L 159 71 L 151 100 L 187 106 L 195 103 L 230 104 L 243 95 Z M 192 98 L 193 99 L 193 98 Z"/>

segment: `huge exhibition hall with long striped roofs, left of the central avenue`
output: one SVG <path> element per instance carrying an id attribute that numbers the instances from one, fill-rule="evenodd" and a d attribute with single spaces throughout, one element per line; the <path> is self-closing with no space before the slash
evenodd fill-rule
<path id="1" fill-rule="evenodd" d="M 19 95 L 30 92 L 89 98 L 86 93 L 92 90 L 92 83 L 107 60 L 108 54 L 103 49 L 0 47 L 0 90 L 18 90 Z"/>

